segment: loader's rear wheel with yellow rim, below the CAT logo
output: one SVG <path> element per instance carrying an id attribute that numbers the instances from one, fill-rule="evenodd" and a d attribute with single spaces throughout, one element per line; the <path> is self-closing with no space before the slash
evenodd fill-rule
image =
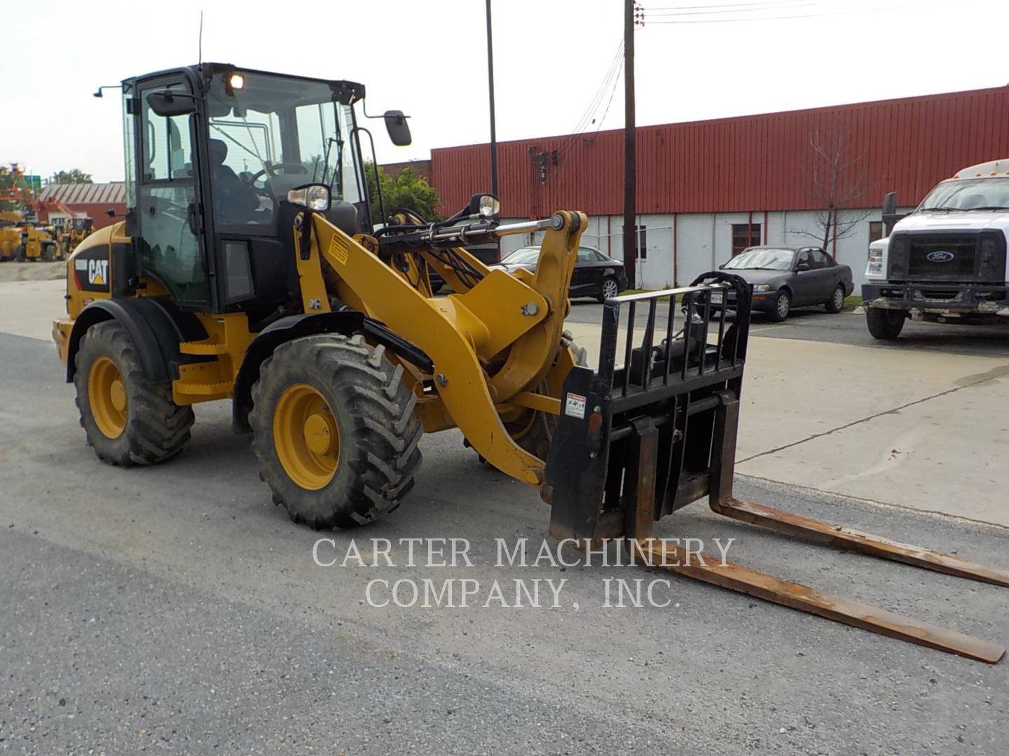
<path id="1" fill-rule="evenodd" d="M 110 465 L 153 465 L 182 452 L 193 407 L 172 400 L 172 385 L 147 383 L 126 330 L 115 321 L 88 329 L 75 358 L 77 407 L 88 446 Z"/>

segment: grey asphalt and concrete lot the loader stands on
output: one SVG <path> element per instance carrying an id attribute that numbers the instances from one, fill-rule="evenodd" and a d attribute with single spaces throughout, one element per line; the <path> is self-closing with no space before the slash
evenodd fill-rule
<path id="1" fill-rule="evenodd" d="M 536 492 L 448 431 L 401 510 L 351 538 L 466 538 L 471 568 L 323 568 L 256 478 L 230 407 L 149 469 L 85 446 L 48 322 L 60 281 L 0 283 L 0 751 L 1003 754 L 1007 662 L 988 666 L 672 578 L 664 608 L 604 607 L 621 568 L 497 568 L 545 535 Z M 590 352 L 600 307 L 569 328 Z M 906 338 L 905 338 L 906 336 Z M 753 323 L 738 494 L 1009 566 L 1004 331 L 864 319 Z M 594 340 L 594 341 L 593 341 Z M 730 558 L 980 638 L 1009 641 L 1004 589 L 715 518 Z M 375 608 L 376 576 L 566 579 L 556 608 Z M 491 714 L 492 713 L 492 714 Z"/>

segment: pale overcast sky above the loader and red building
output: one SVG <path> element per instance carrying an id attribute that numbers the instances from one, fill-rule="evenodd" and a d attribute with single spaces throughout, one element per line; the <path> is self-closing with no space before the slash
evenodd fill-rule
<path id="1" fill-rule="evenodd" d="M 1006 0 L 642 4 L 639 125 L 1009 83 Z M 660 15 L 673 7 L 687 15 Z M 488 138 L 483 0 L 39 0 L 4 9 L 0 160 L 121 179 L 118 91 L 92 92 L 195 64 L 201 9 L 204 60 L 362 82 L 370 111 L 411 115 L 410 147 L 374 129 L 382 162 Z M 571 133 L 618 50 L 622 0 L 493 0 L 493 12 L 498 139 Z M 739 20 L 795 15 L 811 17 Z M 708 22 L 656 23 L 672 19 Z M 604 88 L 589 130 L 613 91 L 602 128 L 623 126 L 622 88 Z"/>

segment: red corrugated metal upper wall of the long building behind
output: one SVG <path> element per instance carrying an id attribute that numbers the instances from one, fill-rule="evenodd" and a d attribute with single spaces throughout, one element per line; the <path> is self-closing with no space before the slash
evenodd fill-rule
<path id="1" fill-rule="evenodd" d="M 896 190 L 915 205 L 965 165 L 1009 155 L 1009 87 L 838 105 L 638 129 L 638 212 L 817 210 L 811 140 L 843 138 L 874 208 Z M 510 218 L 557 208 L 623 213 L 623 131 L 498 144 L 499 194 Z M 488 145 L 434 149 L 431 182 L 447 211 L 490 185 Z M 844 178 L 842 180 L 845 180 Z"/>

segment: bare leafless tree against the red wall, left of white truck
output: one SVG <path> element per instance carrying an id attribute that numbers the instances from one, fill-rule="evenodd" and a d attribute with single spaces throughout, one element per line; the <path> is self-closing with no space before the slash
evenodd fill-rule
<path id="1" fill-rule="evenodd" d="M 873 213 L 866 210 L 842 214 L 857 205 L 871 188 L 859 167 L 869 148 L 856 151 L 851 142 L 852 131 L 845 128 L 837 116 L 826 133 L 817 129 L 809 137 L 810 196 L 821 210 L 816 211 L 812 230 L 789 229 L 789 233 L 816 239 L 824 250 L 829 250 L 831 242 L 854 234 L 858 225 Z"/>

